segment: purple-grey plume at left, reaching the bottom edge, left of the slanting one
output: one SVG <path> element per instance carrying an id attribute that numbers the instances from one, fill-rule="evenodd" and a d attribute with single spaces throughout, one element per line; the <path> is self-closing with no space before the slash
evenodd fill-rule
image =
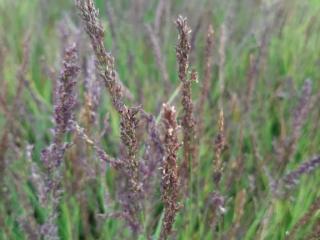
<path id="1" fill-rule="evenodd" d="M 42 161 L 48 171 L 47 176 L 47 198 L 52 200 L 52 212 L 47 221 L 41 227 L 41 234 L 46 239 L 59 239 L 58 228 L 55 221 L 58 217 L 62 189 L 61 164 L 67 145 L 63 142 L 64 135 L 69 130 L 69 122 L 73 119 L 73 108 L 75 106 L 74 88 L 79 71 L 77 64 L 77 49 L 73 44 L 64 51 L 63 66 L 57 87 L 56 103 L 54 109 L 54 136 L 52 144 L 41 153 Z"/>

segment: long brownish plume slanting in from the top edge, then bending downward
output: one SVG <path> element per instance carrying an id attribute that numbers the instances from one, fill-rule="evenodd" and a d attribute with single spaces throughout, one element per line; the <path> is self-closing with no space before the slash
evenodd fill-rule
<path id="1" fill-rule="evenodd" d="M 112 104 L 120 115 L 121 125 L 121 141 L 126 149 L 125 174 L 129 187 L 127 198 L 130 202 L 127 204 L 129 214 L 134 219 L 132 222 L 138 223 L 137 210 L 139 204 L 137 201 L 140 192 L 139 184 L 139 162 L 136 158 L 137 154 L 137 138 L 136 128 L 138 125 L 137 113 L 139 108 L 129 108 L 123 102 L 123 86 L 116 78 L 116 70 L 114 67 L 114 58 L 108 53 L 104 46 L 104 29 L 98 19 L 98 11 L 96 10 L 92 0 L 76 0 L 76 5 L 81 11 L 81 16 L 85 24 L 86 32 L 91 40 L 94 53 L 97 58 L 97 65 L 100 75 L 104 80 L 105 86 L 109 91 Z M 137 233 L 137 226 L 131 226 L 132 230 Z"/>

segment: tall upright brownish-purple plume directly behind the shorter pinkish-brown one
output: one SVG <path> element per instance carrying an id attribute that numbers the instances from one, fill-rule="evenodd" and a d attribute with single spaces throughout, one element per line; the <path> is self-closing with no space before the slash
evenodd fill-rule
<path id="1" fill-rule="evenodd" d="M 177 29 L 179 31 L 178 44 L 176 47 L 176 55 L 179 66 L 179 79 L 182 84 L 181 97 L 183 106 L 182 129 L 183 129 L 183 161 L 181 165 L 181 177 L 184 182 L 188 182 L 191 161 L 194 157 L 194 127 L 193 103 L 191 84 L 195 75 L 192 74 L 188 78 L 189 71 L 189 54 L 190 54 L 190 33 L 187 19 L 179 16 L 176 20 Z"/>

